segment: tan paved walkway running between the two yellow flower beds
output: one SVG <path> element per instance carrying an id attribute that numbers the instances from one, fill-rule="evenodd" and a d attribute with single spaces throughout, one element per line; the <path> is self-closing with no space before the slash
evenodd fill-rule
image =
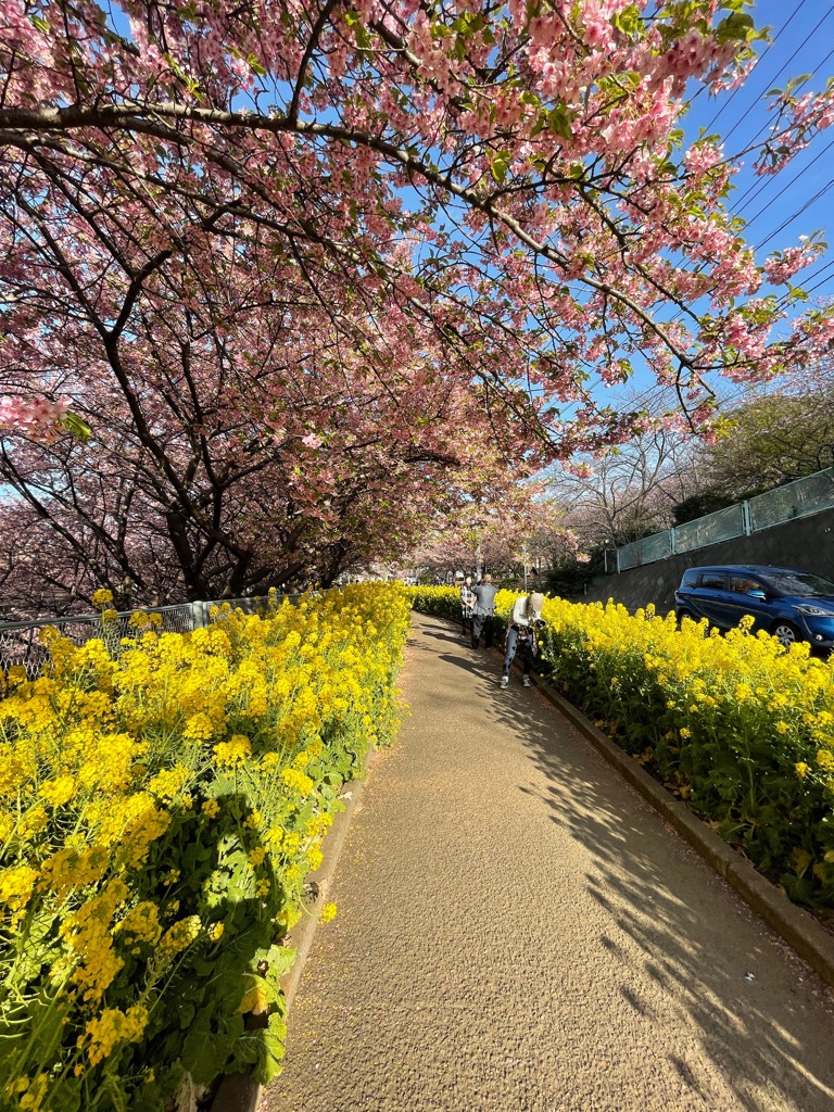
<path id="1" fill-rule="evenodd" d="M 417 617 L 270 1112 L 832 1112 L 832 995 L 497 657 Z"/>

